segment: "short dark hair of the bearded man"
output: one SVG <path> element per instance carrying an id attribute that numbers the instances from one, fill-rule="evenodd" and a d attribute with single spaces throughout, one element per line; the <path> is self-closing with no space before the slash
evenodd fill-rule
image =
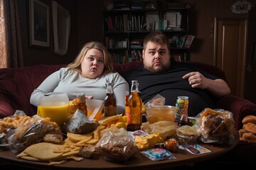
<path id="1" fill-rule="evenodd" d="M 151 33 L 146 35 L 143 41 L 144 50 L 146 50 L 146 45 L 149 41 L 155 42 L 157 44 L 166 44 L 169 49 L 169 38 L 167 37 L 166 34 L 162 33 L 159 30 L 152 31 Z"/>

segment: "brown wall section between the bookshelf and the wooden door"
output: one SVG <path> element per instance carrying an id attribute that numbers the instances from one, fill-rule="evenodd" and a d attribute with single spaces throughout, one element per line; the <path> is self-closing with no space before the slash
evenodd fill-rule
<path id="1" fill-rule="evenodd" d="M 247 14 L 235 14 L 231 11 L 235 0 L 190 0 L 190 32 L 196 35 L 191 45 L 191 61 L 214 65 L 214 21 L 217 18 L 246 18 Z M 253 2 L 253 1 L 252 1 Z"/>

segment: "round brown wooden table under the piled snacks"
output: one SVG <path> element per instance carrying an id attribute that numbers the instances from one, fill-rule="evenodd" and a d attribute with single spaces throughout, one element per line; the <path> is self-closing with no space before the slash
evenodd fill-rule
<path id="1" fill-rule="evenodd" d="M 193 164 L 195 162 L 202 162 L 228 153 L 238 144 L 239 134 L 238 132 L 235 134 L 235 143 L 233 145 L 214 145 L 198 142 L 199 145 L 210 149 L 211 152 L 196 155 L 191 154 L 186 150 L 178 149 L 178 151 L 174 153 L 176 159 L 159 162 L 151 161 L 140 153 L 135 154 L 134 157 L 127 160 L 127 162 L 122 163 L 107 162 L 102 159 L 99 154 L 93 154 L 91 159 L 84 159 L 82 162 L 68 161 L 65 164 L 49 166 L 48 163 L 29 162 L 24 159 L 18 159 L 16 158 L 16 154 L 9 150 L 0 150 L 0 162 L 6 162 L 14 165 L 17 164 L 19 166 L 30 168 L 33 167 L 33 169 L 166 169 L 175 166 Z"/>

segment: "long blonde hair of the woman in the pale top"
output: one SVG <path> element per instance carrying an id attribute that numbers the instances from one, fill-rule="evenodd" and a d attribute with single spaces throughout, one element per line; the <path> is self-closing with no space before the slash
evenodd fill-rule
<path id="1" fill-rule="evenodd" d="M 97 49 L 103 53 L 103 63 L 104 63 L 104 70 L 103 74 L 107 74 L 113 71 L 112 65 L 112 58 L 110 52 L 107 51 L 107 48 L 101 42 L 87 42 L 82 49 L 80 50 L 78 56 L 75 58 L 73 62 L 68 64 L 68 68 L 73 69 L 77 72 L 82 72 L 81 63 L 85 55 L 87 54 L 88 50 L 90 49 Z"/>

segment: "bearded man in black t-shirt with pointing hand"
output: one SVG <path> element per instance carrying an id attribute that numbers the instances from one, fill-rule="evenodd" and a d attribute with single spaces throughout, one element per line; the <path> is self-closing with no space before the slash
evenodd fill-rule
<path id="1" fill-rule="evenodd" d="M 160 94 L 165 105 L 175 106 L 177 96 L 188 96 L 188 115 L 197 115 L 204 108 L 214 108 L 215 97 L 230 94 L 228 84 L 212 74 L 186 62 L 171 60 L 169 40 L 154 31 L 144 38 L 143 65 L 124 75 L 130 84 L 139 81 L 142 101 Z"/>

